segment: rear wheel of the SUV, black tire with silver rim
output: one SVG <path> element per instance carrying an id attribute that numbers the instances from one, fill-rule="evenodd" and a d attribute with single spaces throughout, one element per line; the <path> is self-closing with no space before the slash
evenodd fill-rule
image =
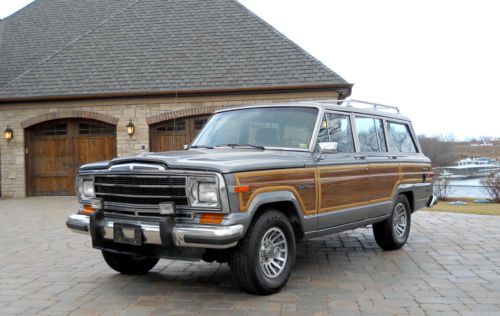
<path id="1" fill-rule="evenodd" d="M 404 229 L 401 219 L 404 214 Z M 411 208 L 408 199 L 404 195 L 399 195 L 392 208 L 389 218 L 383 222 L 373 224 L 373 235 L 375 241 L 384 250 L 396 250 L 403 247 L 410 235 Z"/>

